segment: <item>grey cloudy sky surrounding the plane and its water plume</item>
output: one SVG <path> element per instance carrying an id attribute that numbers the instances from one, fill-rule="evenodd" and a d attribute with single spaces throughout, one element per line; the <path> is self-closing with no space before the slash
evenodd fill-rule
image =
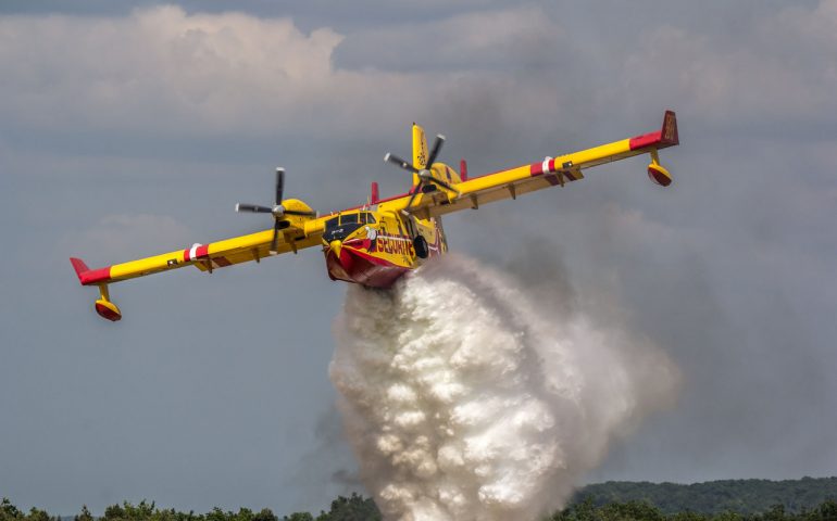
<path id="1" fill-rule="evenodd" d="M 837 0 L 0 3 L 0 495 L 321 508 L 360 490 L 321 254 L 112 287 L 107 265 L 266 228 L 272 171 L 321 211 L 402 192 L 410 123 L 472 175 L 659 127 L 636 158 L 446 220 L 451 247 L 570 284 L 661 345 L 677 406 L 590 481 L 837 468 Z M 548 285 L 548 284 L 547 284 Z"/>

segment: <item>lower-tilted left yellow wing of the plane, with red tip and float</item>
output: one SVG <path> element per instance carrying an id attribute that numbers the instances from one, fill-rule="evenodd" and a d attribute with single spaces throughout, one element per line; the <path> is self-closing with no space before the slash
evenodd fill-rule
<path id="1" fill-rule="evenodd" d="M 325 218 L 292 218 L 289 220 L 293 224 L 280 231 L 276 255 L 288 252 L 296 253 L 299 250 L 322 244 Z M 264 257 L 275 255 L 270 251 L 272 240 L 273 229 L 268 229 L 209 244 L 196 243 L 183 250 L 103 268 L 90 269 L 84 260 L 75 257 L 71 257 L 70 262 L 82 285 L 99 287 L 100 298 L 96 302 L 97 313 L 115 321 L 122 318 L 122 313 L 110 302 L 108 284 L 186 266 L 195 266 L 201 271 L 212 272 L 217 268 L 234 264 L 259 262 Z"/>

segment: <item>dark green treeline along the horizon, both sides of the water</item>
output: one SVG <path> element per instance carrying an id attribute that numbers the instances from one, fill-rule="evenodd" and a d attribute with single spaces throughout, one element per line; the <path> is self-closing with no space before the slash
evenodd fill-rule
<path id="1" fill-rule="evenodd" d="M 0 521 L 379 521 L 375 503 L 358 494 L 338 497 L 328 511 L 279 518 L 270 509 L 215 508 L 207 513 L 161 509 L 154 503 L 123 503 L 95 517 L 87 507 L 71 517 L 38 508 L 23 511 L 3 498 Z M 608 482 L 588 485 L 563 510 L 544 521 L 837 521 L 837 478 L 724 480 L 691 485 Z"/>

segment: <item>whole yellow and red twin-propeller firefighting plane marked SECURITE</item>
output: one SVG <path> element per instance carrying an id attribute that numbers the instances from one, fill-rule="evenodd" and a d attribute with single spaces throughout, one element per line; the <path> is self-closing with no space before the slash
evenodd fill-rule
<path id="1" fill-rule="evenodd" d="M 379 199 L 378 186 L 373 182 L 367 204 L 321 215 L 300 200 L 283 199 L 285 170 L 277 168 L 273 206 L 236 205 L 237 212 L 270 214 L 273 229 L 209 244 L 196 243 L 183 250 L 98 269 L 88 268 L 80 258 L 70 262 L 82 285 L 99 288 L 96 312 L 112 321 L 122 318 L 122 312 L 111 302 L 108 291 L 112 282 L 184 266 L 195 266 L 211 274 L 234 264 L 258 263 L 267 256 L 297 253 L 312 246 L 322 247 L 332 280 L 389 288 L 425 259 L 448 250 L 442 215 L 476 209 L 503 199 L 517 199 L 544 188 L 563 188 L 567 182 L 584 178 L 586 168 L 639 154 L 651 156 L 648 177 L 667 187 L 672 177 L 660 165 L 657 152 L 679 144 L 679 138 L 675 114 L 667 111 L 662 129 L 658 131 L 471 178 L 464 160 L 459 173 L 436 162 L 444 142 L 444 136 L 436 136 L 428 154 L 424 130 L 413 124 L 412 162 L 393 154 L 384 157 L 385 162 L 413 175 L 410 191 L 401 195 Z"/>

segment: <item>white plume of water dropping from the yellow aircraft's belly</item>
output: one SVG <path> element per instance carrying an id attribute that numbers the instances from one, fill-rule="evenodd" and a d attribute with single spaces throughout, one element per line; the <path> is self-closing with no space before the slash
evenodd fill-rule
<path id="1" fill-rule="evenodd" d="M 348 289 L 330 377 L 386 520 L 537 519 L 671 405 L 664 353 L 544 304 L 460 255 Z"/>

